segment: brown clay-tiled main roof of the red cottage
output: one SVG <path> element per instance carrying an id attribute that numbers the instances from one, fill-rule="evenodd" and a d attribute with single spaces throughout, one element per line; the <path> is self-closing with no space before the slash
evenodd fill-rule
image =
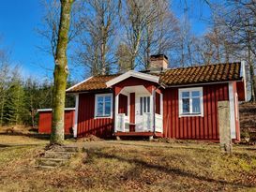
<path id="1" fill-rule="evenodd" d="M 172 68 L 167 69 L 166 71 L 160 74 L 154 73 L 154 75 L 152 76 L 156 77 L 156 75 L 159 75 L 159 81 L 166 86 L 187 85 L 207 82 L 239 81 L 242 79 L 242 77 L 240 76 L 240 69 L 241 63 L 237 62 L 230 64 Z M 128 71 L 127 73 L 131 72 Z M 118 76 L 124 76 L 124 74 L 93 76 L 87 79 L 86 81 L 82 81 L 70 87 L 67 90 L 67 92 L 77 93 L 96 90 L 106 90 L 108 89 L 106 83 L 108 81 L 113 81 L 113 79 Z"/>

